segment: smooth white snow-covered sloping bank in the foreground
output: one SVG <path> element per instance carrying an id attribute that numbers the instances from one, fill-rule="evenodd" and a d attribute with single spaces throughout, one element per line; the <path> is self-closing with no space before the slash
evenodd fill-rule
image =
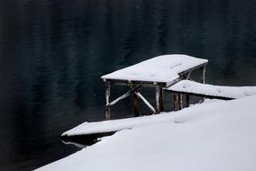
<path id="1" fill-rule="evenodd" d="M 39 170 L 254 171 L 255 103 L 253 95 L 149 116 L 151 124 L 118 131 Z"/>

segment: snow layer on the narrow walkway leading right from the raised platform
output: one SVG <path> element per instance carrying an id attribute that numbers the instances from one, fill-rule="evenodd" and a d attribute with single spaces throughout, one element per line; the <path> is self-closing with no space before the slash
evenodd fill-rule
<path id="1" fill-rule="evenodd" d="M 169 86 L 169 88 L 166 89 L 178 92 L 206 94 L 229 98 L 241 98 L 244 96 L 256 94 L 256 86 L 207 85 L 189 80 L 182 80 L 175 85 Z"/>

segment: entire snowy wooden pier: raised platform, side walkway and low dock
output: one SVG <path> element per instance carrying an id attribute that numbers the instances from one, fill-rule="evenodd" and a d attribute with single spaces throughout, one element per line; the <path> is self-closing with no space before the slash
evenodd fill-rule
<path id="1" fill-rule="evenodd" d="M 256 94 L 256 86 L 221 86 L 206 85 L 206 59 L 193 58 L 187 55 L 166 55 L 142 63 L 125 67 L 114 73 L 102 76 L 105 81 L 105 119 L 106 121 L 84 122 L 72 130 L 64 132 L 61 137 L 66 143 L 73 141 L 73 144 L 83 146 L 96 143 L 98 138 L 112 135 L 119 130 L 129 130 L 159 121 L 168 121 L 175 115 L 162 114 L 160 117 L 149 115 L 143 117 L 133 117 L 120 120 L 110 120 L 110 108 L 115 103 L 133 95 L 134 116 L 140 115 L 139 101 L 142 100 L 156 114 L 164 110 L 164 92 L 174 94 L 175 110 L 181 110 L 184 106 L 189 106 L 191 95 L 203 98 L 214 98 L 222 100 L 232 100 Z M 192 72 L 200 70 L 200 81 L 191 80 Z M 110 101 L 111 87 L 127 86 L 128 90 L 118 98 Z M 150 103 L 140 92 L 149 86 L 155 89 L 155 104 Z M 185 105 L 182 96 L 185 96 Z"/>

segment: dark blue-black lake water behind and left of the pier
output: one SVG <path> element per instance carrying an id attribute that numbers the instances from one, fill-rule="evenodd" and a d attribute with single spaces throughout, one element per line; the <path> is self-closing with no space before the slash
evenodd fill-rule
<path id="1" fill-rule="evenodd" d="M 59 135 L 104 119 L 100 76 L 167 53 L 208 58 L 208 83 L 256 85 L 256 1 L 0 1 L 0 170 L 78 150 Z"/>

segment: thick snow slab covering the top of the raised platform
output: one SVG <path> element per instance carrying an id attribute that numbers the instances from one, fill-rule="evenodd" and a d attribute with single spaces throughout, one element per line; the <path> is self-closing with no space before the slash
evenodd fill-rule
<path id="1" fill-rule="evenodd" d="M 124 67 L 101 76 L 103 79 L 169 83 L 178 79 L 178 73 L 207 63 L 207 59 L 173 54 L 151 58 L 131 67 Z"/>

